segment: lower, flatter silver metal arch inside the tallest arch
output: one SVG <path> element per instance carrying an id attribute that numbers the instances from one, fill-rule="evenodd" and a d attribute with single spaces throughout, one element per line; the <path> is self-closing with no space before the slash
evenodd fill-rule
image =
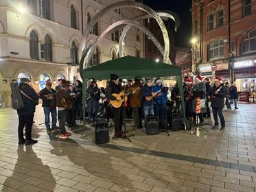
<path id="1" fill-rule="evenodd" d="M 154 42 L 156 47 L 159 49 L 159 51 L 161 51 L 162 55 L 164 56 L 164 49 L 163 49 L 161 43 L 159 43 L 159 41 L 155 38 L 155 36 L 150 32 L 149 29 L 147 29 L 146 27 L 144 27 L 137 21 L 120 20 L 120 21 L 113 23 L 107 29 L 105 29 L 105 31 L 100 35 L 100 37 L 98 37 L 97 40 L 95 40 L 95 42 L 92 45 L 90 45 L 86 49 L 86 51 L 84 51 L 83 56 L 81 58 L 81 62 L 80 62 L 80 64 L 83 64 L 83 66 L 80 67 L 80 69 L 89 67 L 88 64 L 93 56 L 94 50 L 96 49 L 97 45 L 105 38 L 105 36 L 109 36 L 110 34 L 115 32 L 117 30 L 117 28 L 124 27 L 125 25 L 130 25 L 130 26 L 137 27 L 137 28 L 141 29 L 142 32 L 144 32 L 147 36 L 152 38 L 152 41 Z M 170 58 L 168 58 L 168 62 L 170 62 Z"/>

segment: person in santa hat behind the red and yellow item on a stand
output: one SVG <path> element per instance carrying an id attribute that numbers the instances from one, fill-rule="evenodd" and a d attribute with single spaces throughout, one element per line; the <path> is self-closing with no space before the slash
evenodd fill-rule
<path id="1" fill-rule="evenodd" d="M 201 76 L 195 77 L 195 85 L 193 86 L 191 90 L 191 99 L 193 99 L 193 116 L 194 116 L 194 122 L 196 121 L 196 99 L 200 98 L 201 102 L 204 102 L 206 98 L 206 87 L 205 83 L 202 81 Z M 201 105 L 202 106 L 202 105 Z M 204 118 L 202 117 L 202 114 L 206 112 L 206 108 L 201 107 L 201 112 L 198 114 L 198 117 L 200 119 L 200 126 L 204 125 Z"/>

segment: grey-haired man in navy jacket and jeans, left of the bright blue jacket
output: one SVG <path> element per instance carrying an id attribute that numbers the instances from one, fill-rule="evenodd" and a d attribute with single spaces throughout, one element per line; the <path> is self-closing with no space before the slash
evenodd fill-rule
<path id="1" fill-rule="evenodd" d="M 154 91 L 152 88 L 152 82 L 150 78 L 145 79 L 145 85 L 141 89 L 141 97 L 142 97 L 142 106 L 143 106 L 143 116 L 144 121 L 146 123 L 146 118 L 148 115 L 154 115 Z M 151 97 L 151 99 L 147 99 L 147 97 Z"/>

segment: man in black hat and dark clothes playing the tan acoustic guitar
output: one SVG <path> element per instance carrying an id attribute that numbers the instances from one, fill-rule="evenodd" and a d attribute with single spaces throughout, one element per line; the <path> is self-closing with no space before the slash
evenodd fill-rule
<path id="1" fill-rule="evenodd" d="M 111 101 L 117 100 L 121 101 L 121 97 L 114 97 L 113 93 L 121 93 L 121 84 L 119 84 L 119 77 L 115 74 L 110 74 L 110 82 L 106 87 L 106 97 Z M 112 107 L 112 112 L 114 115 L 114 123 L 115 123 L 115 136 L 121 137 L 123 132 L 121 131 L 122 123 L 124 120 L 124 108 Z"/>

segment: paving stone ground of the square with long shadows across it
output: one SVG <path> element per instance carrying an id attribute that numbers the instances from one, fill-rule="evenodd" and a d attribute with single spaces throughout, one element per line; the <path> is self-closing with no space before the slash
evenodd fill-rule
<path id="1" fill-rule="evenodd" d="M 256 191 L 256 105 L 225 110 L 226 129 L 200 136 L 190 131 L 148 136 L 132 128 L 132 142 L 93 143 L 94 130 L 82 125 L 69 139 L 47 134 L 38 106 L 33 146 L 17 145 L 18 118 L 0 108 L 0 191 Z M 111 130 L 113 134 L 113 130 Z M 135 136 L 131 136 L 135 134 Z"/>

